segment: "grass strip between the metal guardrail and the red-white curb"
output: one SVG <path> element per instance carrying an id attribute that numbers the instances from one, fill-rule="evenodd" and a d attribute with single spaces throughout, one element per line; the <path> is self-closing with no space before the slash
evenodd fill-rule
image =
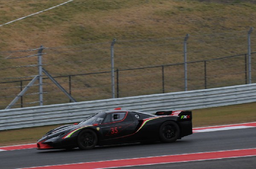
<path id="1" fill-rule="evenodd" d="M 193 127 L 254 122 L 255 107 L 256 102 L 192 110 Z M 58 126 L 61 125 L 0 131 L 0 146 L 35 143 L 46 132 Z"/>

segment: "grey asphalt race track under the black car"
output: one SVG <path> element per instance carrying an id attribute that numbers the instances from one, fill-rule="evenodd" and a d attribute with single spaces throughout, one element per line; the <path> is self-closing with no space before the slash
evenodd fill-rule
<path id="1" fill-rule="evenodd" d="M 73 149 L 37 150 L 20 149 L 0 152 L 1 169 L 17 169 L 35 166 L 49 166 L 68 163 L 108 161 L 130 158 L 155 157 L 163 155 L 180 155 L 199 152 L 216 152 L 236 149 L 256 148 L 256 127 L 198 132 L 186 136 L 171 144 L 125 144 L 117 146 L 96 147 L 89 151 Z M 223 158 L 204 161 L 163 163 L 146 166 L 129 166 L 123 169 L 255 169 L 256 156 Z"/>

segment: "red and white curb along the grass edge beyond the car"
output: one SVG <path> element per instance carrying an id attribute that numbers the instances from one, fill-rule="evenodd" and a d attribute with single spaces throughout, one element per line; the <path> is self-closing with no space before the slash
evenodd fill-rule
<path id="1" fill-rule="evenodd" d="M 221 130 L 232 130 L 232 129 L 244 129 L 244 128 L 250 128 L 250 127 L 256 127 L 256 122 L 193 128 L 193 133 L 212 132 L 212 131 L 221 131 Z M 0 147 L 0 151 L 9 151 L 9 150 L 17 150 L 17 149 L 32 149 L 32 148 L 36 148 L 36 144 L 24 144 L 24 145 L 17 145 L 17 146 L 3 146 L 3 147 Z"/>

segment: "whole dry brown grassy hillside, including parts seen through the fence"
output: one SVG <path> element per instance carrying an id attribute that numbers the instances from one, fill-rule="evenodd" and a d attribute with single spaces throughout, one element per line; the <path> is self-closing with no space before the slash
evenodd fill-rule
<path id="1" fill-rule="evenodd" d="M 66 1 L 2 1 L 0 24 Z M 27 76 L 36 75 L 37 68 L 20 68 L 20 65 L 37 64 L 37 58 L 6 58 L 35 54 L 37 51 L 10 51 L 39 48 L 40 45 L 47 47 L 43 50 L 47 53 L 43 63 L 52 76 L 110 71 L 110 44 L 113 38 L 117 39 L 115 68 L 119 69 L 183 62 L 183 39 L 186 34 L 189 34 L 188 62 L 246 54 L 247 32 L 250 27 L 256 27 L 255 11 L 255 0 L 74 0 L 0 27 L 0 82 L 16 80 L 13 77 L 31 79 Z M 253 32 L 253 51 L 256 51 L 255 44 L 256 33 Z M 255 64 L 255 59 L 253 62 Z M 217 85 L 211 87 L 221 87 L 223 85 L 218 84 L 224 82 L 229 83 L 226 85 L 243 84 L 243 64 L 244 58 L 212 61 L 208 67 L 208 71 L 213 72 L 209 74 L 209 83 Z M 166 77 L 166 92 L 183 90 L 182 69 L 182 65 L 166 68 L 165 72 L 169 75 Z M 189 85 L 192 86 L 189 90 L 201 89 L 204 65 L 190 65 L 189 71 Z M 134 70 L 121 74 L 121 97 L 161 93 L 161 70 L 141 72 Z M 236 79 L 234 74 L 239 74 L 239 77 Z M 78 101 L 110 98 L 109 77 L 109 73 L 76 76 L 73 78 L 72 94 Z M 152 82 L 153 79 L 155 82 Z M 68 88 L 68 79 L 58 80 Z M 49 100 L 46 104 L 68 101 L 63 100 L 65 96 L 51 82 L 44 82 L 48 83 L 44 91 L 51 93 L 45 96 Z M 0 106 L 13 99 L 8 96 L 15 96 L 20 90 L 19 85 L 19 82 L 13 86 L 0 85 L 4 90 Z M 135 89 L 143 92 L 138 93 Z M 37 87 L 32 87 L 31 93 L 37 90 Z M 27 102 L 38 98 L 27 97 Z"/>

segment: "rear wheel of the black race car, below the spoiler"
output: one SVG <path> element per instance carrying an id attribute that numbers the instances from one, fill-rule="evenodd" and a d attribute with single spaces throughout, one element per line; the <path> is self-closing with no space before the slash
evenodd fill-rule
<path id="1" fill-rule="evenodd" d="M 159 131 L 160 141 L 163 143 L 175 142 L 180 136 L 180 127 L 174 121 L 164 122 Z"/>

